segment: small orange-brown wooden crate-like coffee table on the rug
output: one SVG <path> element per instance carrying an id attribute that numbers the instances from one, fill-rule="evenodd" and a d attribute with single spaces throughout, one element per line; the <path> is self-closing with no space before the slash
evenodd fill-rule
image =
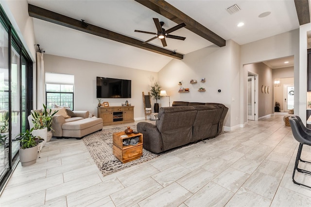
<path id="1" fill-rule="evenodd" d="M 112 135 L 113 154 L 122 162 L 130 162 L 142 156 L 142 134 L 129 134 L 125 137 L 125 132 L 117 132 Z M 139 138 L 137 145 L 123 145 L 123 140 L 128 138 Z"/>

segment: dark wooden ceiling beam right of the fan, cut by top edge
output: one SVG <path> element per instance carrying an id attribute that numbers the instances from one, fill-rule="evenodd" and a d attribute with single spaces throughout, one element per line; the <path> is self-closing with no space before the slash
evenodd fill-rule
<path id="1" fill-rule="evenodd" d="M 164 0 L 135 0 L 135 1 L 148 7 L 149 9 L 155 11 L 156 13 L 171 19 L 177 24 L 185 22 L 186 24 L 185 28 L 187 28 L 188 30 L 197 35 L 202 36 L 203 38 L 214 43 L 215 45 L 218 45 L 219 47 L 225 46 L 225 39 L 216 35 L 212 31 L 207 29 L 205 26 L 195 21 L 193 18 L 189 17 L 182 11 L 173 7 L 168 2 Z"/>

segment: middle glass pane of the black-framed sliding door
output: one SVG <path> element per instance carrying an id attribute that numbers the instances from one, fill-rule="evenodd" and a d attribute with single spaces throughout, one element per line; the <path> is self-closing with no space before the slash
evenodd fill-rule
<path id="1" fill-rule="evenodd" d="M 20 56 L 14 47 L 11 48 L 11 124 L 12 124 L 12 157 L 17 154 L 20 133 Z"/>

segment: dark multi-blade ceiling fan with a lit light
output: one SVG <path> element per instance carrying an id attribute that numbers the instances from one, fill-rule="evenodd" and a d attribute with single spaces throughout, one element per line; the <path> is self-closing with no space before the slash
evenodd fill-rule
<path id="1" fill-rule="evenodd" d="M 165 41 L 166 37 L 173 38 L 173 39 L 179 39 L 179 40 L 185 40 L 186 39 L 186 37 L 182 37 L 182 36 L 169 35 L 169 33 L 172 33 L 175 30 L 178 30 L 178 29 L 186 26 L 186 24 L 184 22 L 172 27 L 171 29 L 165 30 L 162 28 L 162 26 L 164 25 L 163 21 L 159 21 L 158 18 L 153 18 L 153 19 L 155 22 L 155 27 L 156 27 L 157 33 L 135 30 L 135 32 L 138 32 L 138 33 L 146 33 L 146 34 L 156 35 L 155 37 L 148 39 L 147 41 L 143 42 L 142 44 L 146 44 L 146 43 L 148 43 L 148 42 L 150 42 L 156 38 L 159 38 L 162 42 L 163 47 L 165 47 L 165 46 L 167 46 L 166 41 Z"/>

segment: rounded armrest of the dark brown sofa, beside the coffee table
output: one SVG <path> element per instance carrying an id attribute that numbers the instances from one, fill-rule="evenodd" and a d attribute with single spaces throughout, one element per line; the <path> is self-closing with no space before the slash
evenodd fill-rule
<path id="1" fill-rule="evenodd" d="M 143 148 L 153 153 L 164 151 L 161 133 L 154 124 L 138 122 L 137 131 L 143 134 Z"/>

